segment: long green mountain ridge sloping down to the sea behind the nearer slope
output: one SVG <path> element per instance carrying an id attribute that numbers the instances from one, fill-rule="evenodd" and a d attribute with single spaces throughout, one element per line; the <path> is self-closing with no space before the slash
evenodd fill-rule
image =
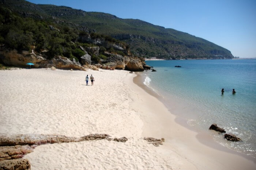
<path id="1" fill-rule="evenodd" d="M 25 0 L 1 0 L 27 17 L 66 22 L 87 32 L 110 35 L 124 41 L 133 55 L 166 59 L 231 59 L 231 52 L 210 41 L 138 19 L 121 19 L 102 12 L 85 12 L 65 6 L 41 5 Z"/>

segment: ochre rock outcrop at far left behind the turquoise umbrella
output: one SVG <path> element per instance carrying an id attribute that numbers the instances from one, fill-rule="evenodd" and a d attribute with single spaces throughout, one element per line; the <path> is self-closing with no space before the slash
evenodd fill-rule
<path id="1" fill-rule="evenodd" d="M 33 63 L 35 64 L 34 67 L 38 68 L 43 61 L 46 59 L 34 52 L 22 51 L 22 53 L 18 53 L 17 50 L 0 50 L 0 62 L 7 66 L 27 67 L 27 63 Z"/>

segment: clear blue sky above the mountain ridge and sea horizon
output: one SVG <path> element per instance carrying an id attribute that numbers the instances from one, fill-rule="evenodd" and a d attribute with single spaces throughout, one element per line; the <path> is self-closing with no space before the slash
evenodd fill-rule
<path id="1" fill-rule="evenodd" d="M 256 57 L 256 0 L 29 0 L 140 19 Z"/>

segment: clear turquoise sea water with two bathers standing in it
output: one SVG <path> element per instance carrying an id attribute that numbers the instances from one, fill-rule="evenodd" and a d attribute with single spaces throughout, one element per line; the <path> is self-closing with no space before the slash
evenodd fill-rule
<path id="1" fill-rule="evenodd" d="M 256 59 L 166 60 L 146 64 L 157 72 L 144 72 L 144 84 L 163 96 L 172 113 L 187 119 L 189 126 L 207 131 L 221 145 L 256 157 Z M 229 142 L 223 135 L 209 131 L 212 123 L 243 142 Z"/>

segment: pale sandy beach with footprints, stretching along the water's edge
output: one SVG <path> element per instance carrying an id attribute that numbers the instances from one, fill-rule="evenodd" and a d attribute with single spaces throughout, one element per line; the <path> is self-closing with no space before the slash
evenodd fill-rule
<path id="1" fill-rule="evenodd" d="M 86 86 L 93 74 L 94 86 Z M 123 70 L 0 71 L 0 134 L 108 134 L 37 146 L 31 169 L 255 169 L 256 160 L 177 123 L 136 74 Z M 134 83 L 135 82 L 135 83 Z M 90 84 L 90 82 L 89 82 Z M 165 138 L 155 147 L 144 137 Z M 0 162 L 1 163 L 1 162 Z"/>

